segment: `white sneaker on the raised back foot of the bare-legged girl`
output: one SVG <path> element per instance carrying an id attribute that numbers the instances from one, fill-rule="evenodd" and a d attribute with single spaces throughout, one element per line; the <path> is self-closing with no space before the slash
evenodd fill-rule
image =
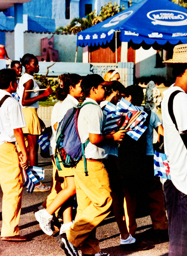
<path id="1" fill-rule="evenodd" d="M 53 231 L 51 229 L 51 220 L 53 215 L 50 215 L 46 209 L 39 210 L 35 212 L 35 218 L 40 224 L 41 230 L 46 233 L 48 236 L 52 236 Z"/>

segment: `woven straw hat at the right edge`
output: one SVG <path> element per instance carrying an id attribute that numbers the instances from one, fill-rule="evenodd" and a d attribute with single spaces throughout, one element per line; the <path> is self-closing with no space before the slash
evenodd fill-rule
<path id="1" fill-rule="evenodd" d="M 163 61 L 163 63 L 187 63 L 187 44 L 175 45 L 173 59 Z"/>

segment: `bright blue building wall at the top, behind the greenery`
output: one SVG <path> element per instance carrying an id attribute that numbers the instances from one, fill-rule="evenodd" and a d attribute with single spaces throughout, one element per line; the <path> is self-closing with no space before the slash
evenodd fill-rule
<path id="1" fill-rule="evenodd" d="M 141 0 L 132 0 L 132 5 Z M 28 30 L 36 32 L 54 32 L 59 26 L 65 26 L 73 18 L 85 16 L 85 4 L 92 4 L 92 11 L 100 12 L 106 0 L 71 0 L 70 19 L 65 18 L 65 0 L 33 0 L 23 3 L 23 14 L 28 15 Z M 113 0 L 118 5 L 128 8 L 129 0 Z M 7 12 L 0 12 L 0 29 L 14 29 L 14 7 L 8 8 Z"/>

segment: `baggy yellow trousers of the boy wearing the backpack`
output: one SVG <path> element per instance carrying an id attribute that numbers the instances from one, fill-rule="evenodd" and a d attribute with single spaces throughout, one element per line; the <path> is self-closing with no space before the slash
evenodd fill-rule
<path id="1" fill-rule="evenodd" d="M 84 162 L 79 161 L 74 178 L 77 194 L 75 222 L 66 230 L 68 240 L 85 254 L 100 252 L 95 236 L 96 227 L 110 213 L 112 204 L 108 173 L 101 161 L 87 161 L 88 176 Z"/>

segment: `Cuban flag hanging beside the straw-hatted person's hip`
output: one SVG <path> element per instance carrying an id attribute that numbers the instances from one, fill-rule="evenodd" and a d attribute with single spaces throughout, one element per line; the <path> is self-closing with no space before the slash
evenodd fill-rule
<path id="1" fill-rule="evenodd" d="M 167 161 L 167 156 L 163 153 L 154 153 L 154 173 L 155 176 L 170 180 L 170 168 Z"/>

